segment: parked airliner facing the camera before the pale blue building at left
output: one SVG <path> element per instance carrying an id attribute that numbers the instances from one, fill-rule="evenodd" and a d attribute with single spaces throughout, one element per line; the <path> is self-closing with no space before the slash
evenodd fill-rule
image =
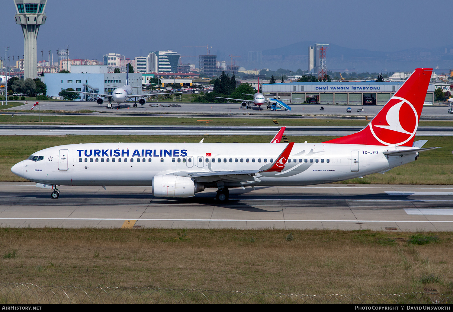
<path id="1" fill-rule="evenodd" d="M 94 92 L 82 92 L 82 91 L 68 91 L 73 93 L 82 93 L 82 94 L 89 94 L 90 96 L 98 96 L 96 102 L 99 105 L 104 103 L 102 97 L 105 97 L 110 101 L 114 101 L 118 104 L 118 108 L 120 108 L 120 104 L 128 101 L 130 98 L 135 98 L 137 100 L 140 97 L 139 104 L 145 105 L 146 100 L 145 98 L 149 96 L 156 96 L 161 94 L 173 94 L 173 93 L 181 93 L 181 92 L 165 92 L 165 93 L 146 93 L 146 94 L 132 94 L 132 89 L 134 88 L 143 88 L 143 86 L 130 86 L 129 85 L 129 72 L 126 73 L 126 84 L 121 87 L 114 86 L 116 89 L 112 91 L 112 94 L 102 94 L 102 93 L 94 93 Z M 134 103 L 134 107 L 137 107 L 137 103 Z"/>

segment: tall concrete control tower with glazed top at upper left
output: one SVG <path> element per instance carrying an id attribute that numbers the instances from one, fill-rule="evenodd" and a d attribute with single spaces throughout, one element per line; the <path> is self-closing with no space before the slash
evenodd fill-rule
<path id="1" fill-rule="evenodd" d="M 17 13 L 16 24 L 22 26 L 24 33 L 24 79 L 34 79 L 38 75 L 36 69 L 36 38 L 39 26 L 46 22 L 44 12 L 47 0 L 14 0 Z"/>

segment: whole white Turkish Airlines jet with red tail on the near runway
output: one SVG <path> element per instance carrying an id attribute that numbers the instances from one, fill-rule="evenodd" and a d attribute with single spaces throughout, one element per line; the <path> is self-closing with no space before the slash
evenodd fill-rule
<path id="1" fill-rule="evenodd" d="M 59 185 L 151 185 L 154 197 L 193 197 L 217 188 L 297 186 L 384 173 L 410 163 L 426 140 L 414 142 L 431 77 L 417 68 L 361 131 L 318 144 L 90 143 L 42 149 L 11 171 L 52 189 Z"/>

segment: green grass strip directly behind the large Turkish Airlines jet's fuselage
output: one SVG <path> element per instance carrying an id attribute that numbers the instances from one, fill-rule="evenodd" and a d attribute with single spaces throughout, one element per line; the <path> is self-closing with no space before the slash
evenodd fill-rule
<path id="1" fill-rule="evenodd" d="M 67 136 L 0 136 L 0 181 L 25 181 L 11 172 L 14 163 L 32 153 L 52 146 L 93 142 L 199 142 L 201 136 L 169 135 L 67 135 Z M 290 142 L 319 143 L 334 137 L 289 136 Z M 259 135 L 209 135 L 204 142 L 268 143 L 272 136 Z M 339 183 L 354 184 L 453 184 L 452 150 L 450 137 L 416 137 L 428 139 L 425 147 L 443 146 L 442 149 L 422 152 L 417 161 L 394 168 L 385 174 L 371 174 L 364 178 Z"/>

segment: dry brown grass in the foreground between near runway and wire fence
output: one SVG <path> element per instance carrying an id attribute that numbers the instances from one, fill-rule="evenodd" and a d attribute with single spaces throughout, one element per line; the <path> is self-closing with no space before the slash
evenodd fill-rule
<path id="1" fill-rule="evenodd" d="M 0 285 L 446 294 L 452 239 L 370 230 L 2 228 Z"/>

